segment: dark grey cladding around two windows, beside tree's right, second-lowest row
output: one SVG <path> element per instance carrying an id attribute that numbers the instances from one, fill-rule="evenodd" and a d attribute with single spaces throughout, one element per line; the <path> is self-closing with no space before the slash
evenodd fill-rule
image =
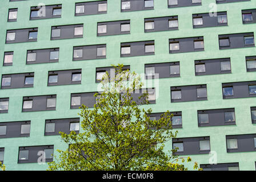
<path id="1" fill-rule="evenodd" d="M 210 140 L 210 137 L 173 138 L 173 143 L 183 142 L 183 152 L 174 152 L 174 155 L 209 154 L 210 150 L 200 151 L 200 140 Z"/>

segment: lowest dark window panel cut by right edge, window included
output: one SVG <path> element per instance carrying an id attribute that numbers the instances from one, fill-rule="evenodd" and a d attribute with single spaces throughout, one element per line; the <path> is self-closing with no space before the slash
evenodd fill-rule
<path id="1" fill-rule="evenodd" d="M 227 152 L 256 151 L 256 134 L 226 135 Z"/>

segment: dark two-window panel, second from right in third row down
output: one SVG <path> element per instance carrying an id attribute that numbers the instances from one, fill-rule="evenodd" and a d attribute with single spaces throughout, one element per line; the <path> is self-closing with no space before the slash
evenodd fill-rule
<path id="1" fill-rule="evenodd" d="M 203 36 L 169 39 L 169 53 L 205 51 Z"/>

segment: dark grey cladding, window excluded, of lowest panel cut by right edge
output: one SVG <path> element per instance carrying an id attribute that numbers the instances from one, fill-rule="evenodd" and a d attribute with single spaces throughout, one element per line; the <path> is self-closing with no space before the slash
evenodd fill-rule
<path id="1" fill-rule="evenodd" d="M 227 139 L 237 139 L 237 148 L 236 149 L 227 149 L 227 152 L 256 151 L 256 148 L 254 146 L 254 138 L 256 138 L 256 134 L 226 135 L 226 140 Z"/>

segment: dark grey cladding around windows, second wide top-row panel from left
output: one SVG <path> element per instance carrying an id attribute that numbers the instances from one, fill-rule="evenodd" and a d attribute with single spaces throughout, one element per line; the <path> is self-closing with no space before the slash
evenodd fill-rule
<path id="1" fill-rule="evenodd" d="M 80 5 L 85 6 L 84 13 L 75 13 L 75 16 L 106 14 L 107 11 L 98 11 L 98 5 L 102 4 L 102 3 L 107 3 L 107 1 L 93 1 L 93 2 L 75 3 L 75 6 L 80 6 Z"/>

